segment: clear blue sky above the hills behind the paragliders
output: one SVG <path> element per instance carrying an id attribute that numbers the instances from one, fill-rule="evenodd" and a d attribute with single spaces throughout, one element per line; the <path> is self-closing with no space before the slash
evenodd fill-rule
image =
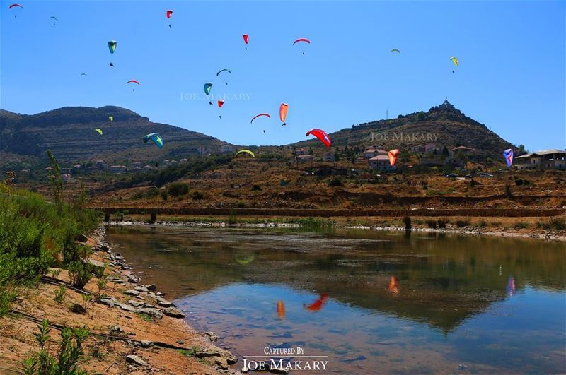
<path id="1" fill-rule="evenodd" d="M 566 147 L 565 1 L 0 4 L 0 107 L 13 112 L 118 105 L 231 143 L 272 145 L 386 111 L 426 111 L 447 96 L 512 143 Z M 298 37 L 311 44 L 293 46 Z M 228 85 L 216 78 L 223 68 L 233 72 Z M 129 79 L 141 85 L 132 91 Z M 214 100 L 226 95 L 221 109 L 203 97 L 208 81 Z M 272 119 L 250 124 L 261 112 Z"/>

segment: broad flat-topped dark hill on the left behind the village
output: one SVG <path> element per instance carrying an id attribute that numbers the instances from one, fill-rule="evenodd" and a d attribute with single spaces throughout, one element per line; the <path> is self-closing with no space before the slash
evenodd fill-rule
<path id="1" fill-rule="evenodd" d="M 112 116 L 114 121 L 108 121 Z M 94 131 L 103 130 L 103 138 Z M 159 133 L 167 147 L 143 143 Z M 224 142 L 177 126 L 158 124 L 121 107 L 63 107 L 40 114 L 0 109 L 0 153 L 44 157 L 50 148 L 59 160 L 79 162 L 112 155 L 116 160 L 154 160 L 196 155 L 199 147 L 218 150 Z"/>

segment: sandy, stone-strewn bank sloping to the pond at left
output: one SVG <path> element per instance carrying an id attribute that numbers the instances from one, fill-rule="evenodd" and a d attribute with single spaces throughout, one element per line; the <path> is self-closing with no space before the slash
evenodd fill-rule
<path id="1" fill-rule="evenodd" d="M 74 290 L 67 270 L 52 268 L 35 289 L 22 290 L 0 319 L 0 373 L 23 374 L 21 362 L 37 352 L 37 323 L 48 319 L 53 355 L 58 355 L 62 326 L 90 328 L 79 365 L 93 374 L 238 374 L 231 367 L 236 357 L 213 344 L 216 335 L 187 326 L 183 311 L 155 285 L 141 284 L 104 238 L 105 227 L 100 227 L 86 241 L 93 250 L 89 261 L 105 267 L 103 298 L 94 302 L 96 277 L 83 290 Z M 64 301 L 57 303 L 54 292 L 61 286 Z M 83 302 L 84 293 L 91 302 Z M 86 311 L 72 312 L 74 304 L 85 305 Z"/>

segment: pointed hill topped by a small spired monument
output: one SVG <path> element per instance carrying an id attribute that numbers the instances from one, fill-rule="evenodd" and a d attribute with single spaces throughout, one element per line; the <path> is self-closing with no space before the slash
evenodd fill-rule
<path id="1" fill-rule="evenodd" d="M 428 112 L 400 115 L 396 119 L 371 121 L 329 134 L 333 146 L 349 148 L 379 145 L 385 150 L 410 150 L 413 146 L 437 143 L 446 147 L 466 146 L 480 158 L 501 157 L 513 145 L 487 126 L 467 117 L 448 100 Z M 318 141 L 301 141 L 291 147 L 318 146 Z"/>

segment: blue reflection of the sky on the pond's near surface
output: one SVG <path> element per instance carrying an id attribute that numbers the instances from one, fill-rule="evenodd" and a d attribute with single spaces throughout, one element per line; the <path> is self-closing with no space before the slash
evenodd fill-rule
<path id="1" fill-rule="evenodd" d="M 221 344 L 238 355 L 263 355 L 266 345 L 299 345 L 306 355 L 328 355 L 329 369 L 346 372 L 375 366 L 384 372 L 412 371 L 418 367 L 413 358 L 422 361 L 428 352 L 439 354 L 441 361 L 424 364 L 424 372 L 456 371 L 459 364 L 479 371 L 547 372 L 557 365 L 557 358 L 548 353 L 558 350 L 565 338 L 565 324 L 556 324 L 566 314 L 564 294 L 530 287 L 471 316 L 448 334 L 331 297 L 320 311 L 306 311 L 304 304 L 318 297 L 289 287 L 235 283 L 175 303 L 190 311 L 192 326 L 216 332 Z M 284 302 L 284 319 L 277 317 L 278 300 Z M 410 355 L 417 352 L 422 354 Z"/>

